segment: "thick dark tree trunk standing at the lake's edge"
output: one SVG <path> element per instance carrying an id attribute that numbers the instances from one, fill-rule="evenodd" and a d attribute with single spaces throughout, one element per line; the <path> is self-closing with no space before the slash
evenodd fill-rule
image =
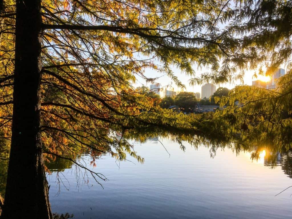
<path id="1" fill-rule="evenodd" d="M 41 147 L 41 0 L 16 1 L 13 124 L 2 217 L 52 218 Z"/>

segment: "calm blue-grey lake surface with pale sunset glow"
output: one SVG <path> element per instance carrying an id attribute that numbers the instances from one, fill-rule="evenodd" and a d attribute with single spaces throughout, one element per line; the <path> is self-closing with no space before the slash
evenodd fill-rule
<path id="1" fill-rule="evenodd" d="M 289 154 L 288 158 L 279 156 L 283 167 L 271 168 L 263 157 L 251 161 L 249 153 L 236 156 L 231 150 L 218 149 L 212 159 L 204 146 L 195 150 L 185 143 L 183 152 L 177 143 L 162 142 L 170 157 L 156 139 L 135 143 L 135 151 L 145 158 L 144 164 L 131 158 L 135 164 L 119 164 L 103 155 L 93 167 L 92 158 L 84 155 L 82 162 L 88 168 L 109 179 L 100 181 L 104 189 L 90 173 L 87 178 L 74 166 L 59 173 L 53 171 L 48 175 L 52 211 L 88 219 L 292 217 L 292 188 L 274 197 L 292 185 L 286 175 L 291 173 Z"/>

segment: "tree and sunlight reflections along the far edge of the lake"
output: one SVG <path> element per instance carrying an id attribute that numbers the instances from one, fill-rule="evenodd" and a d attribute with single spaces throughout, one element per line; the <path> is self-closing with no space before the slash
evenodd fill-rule
<path id="1" fill-rule="evenodd" d="M 173 136 L 167 135 L 164 136 L 164 138 L 171 138 Z M 121 140 L 122 138 L 119 138 Z M 154 142 L 160 144 L 160 137 L 157 136 L 151 136 L 151 137 L 145 137 L 141 138 L 139 140 L 135 139 L 134 142 Z M 133 140 L 133 139 L 132 139 Z M 292 149 L 286 150 L 282 149 L 280 151 L 273 151 L 270 149 L 270 147 L 261 147 L 261 146 L 253 146 L 253 147 L 246 147 L 239 139 L 231 139 L 226 138 L 226 136 L 222 138 L 212 138 L 207 139 L 205 137 L 195 136 L 194 138 L 190 139 L 189 136 L 185 136 L 185 140 L 181 141 L 178 139 L 172 139 L 174 141 L 177 141 L 180 145 L 180 148 L 182 150 L 185 149 L 184 143 L 189 142 L 191 145 L 198 149 L 199 147 L 207 147 L 209 149 L 210 157 L 214 158 L 216 156 L 217 150 L 232 150 L 237 155 L 242 152 L 250 152 L 251 154 L 251 160 L 253 161 L 263 161 L 264 166 L 268 166 L 269 168 L 276 168 L 277 166 L 281 166 L 284 174 L 288 175 L 289 178 L 292 178 Z M 101 159 L 102 156 L 107 155 L 106 153 L 96 152 L 94 150 L 86 150 L 82 153 L 78 154 L 76 160 L 82 162 L 83 157 L 87 155 L 90 157 L 90 165 L 95 167 L 95 161 L 96 159 Z M 84 161 L 85 162 L 85 161 Z M 65 171 L 65 169 L 70 169 L 72 166 L 76 166 L 72 161 L 70 160 L 64 160 L 59 157 L 55 157 L 54 160 L 50 160 L 46 162 L 46 167 L 48 168 L 48 172 L 62 172 Z"/>

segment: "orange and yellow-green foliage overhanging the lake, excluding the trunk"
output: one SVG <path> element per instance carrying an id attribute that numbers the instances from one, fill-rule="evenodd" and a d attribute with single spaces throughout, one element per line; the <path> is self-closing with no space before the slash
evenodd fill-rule
<path id="1" fill-rule="evenodd" d="M 1 136 L 8 142 L 13 107 L 15 13 L 15 1 L 2 2 L 0 128 Z M 116 131 L 124 135 L 133 132 L 142 138 L 147 129 L 159 133 L 157 127 L 174 135 L 178 135 L 178 130 L 193 134 L 202 131 L 199 128 L 209 130 L 198 122 L 202 122 L 200 119 L 190 120 L 157 109 L 132 84 L 138 77 L 153 80 L 144 75 L 145 68 L 150 68 L 167 74 L 183 88 L 171 70 L 173 65 L 192 77 L 191 84 L 232 82 L 242 79 L 247 68 L 267 66 L 267 74 L 271 74 L 291 57 L 291 17 L 290 1 L 42 0 L 41 135 L 48 160 L 56 155 L 74 158 L 76 147 L 86 147 L 121 160 L 126 159 L 128 152 L 142 161 L 131 145 L 115 138 Z M 210 72 L 199 77 L 194 64 L 207 67 Z M 237 128 L 228 123 L 234 133 L 241 133 L 239 127 L 245 125 L 247 130 L 260 130 L 250 126 L 253 118 L 256 127 L 267 124 L 260 122 L 261 114 L 265 115 L 263 121 L 271 124 L 265 128 L 273 127 L 273 131 L 277 127 L 272 125 L 275 116 L 276 124 L 289 130 L 290 120 L 279 120 L 283 112 L 290 115 L 290 106 L 283 102 L 290 94 L 286 90 L 290 89 L 289 79 L 282 83 L 287 88 L 275 93 L 248 87 L 233 90 L 231 102 L 232 97 L 241 102 L 250 100 L 252 107 L 248 113 L 244 107 L 224 111 L 229 116 L 239 116 L 232 123 Z M 253 95 L 254 92 L 259 95 Z M 262 96 L 269 105 L 252 99 Z M 222 104 L 226 103 L 224 100 Z M 191 102 L 183 107 L 191 107 Z M 239 110 L 243 111 L 238 114 Z M 252 119 L 242 117 L 249 117 L 250 113 Z M 267 117 L 271 113 L 271 118 Z"/>

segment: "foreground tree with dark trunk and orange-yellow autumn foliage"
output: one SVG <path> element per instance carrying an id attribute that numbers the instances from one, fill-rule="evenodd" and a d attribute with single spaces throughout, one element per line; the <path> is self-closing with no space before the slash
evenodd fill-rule
<path id="1" fill-rule="evenodd" d="M 126 135 L 128 130 L 163 128 L 194 134 L 193 126 L 208 127 L 191 117 L 153 110 L 153 102 L 131 84 L 135 77 L 146 78 L 143 70 L 152 68 L 183 87 L 170 66 L 194 76 L 195 62 L 210 67 L 211 75 L 192 83 L 242 78 L 242 72 L 232 77 L 237 67 L 244 69 L 248 61 L 254 67 L 265 56 L 251 47 L 254 37 L 242 40 L 237 33 L 268 29 L 266 22 L 259 22 L 274 18 L 266 2 L 244 1 L 243 10 L 232 10 L 227 0 L 1 1 L 0 127 L 3 138 L 11 140 L 2 217 L 52 218 L 46 156 L 72 159 L 79 147 L 121 160 L 129 153 L 142 161 L 131 145 L 114 137 L 115 131 Z M 272 10 L 280 8 L 278 17 L 289 28 L 288 3 L 268 2 Z M 231 25 L 220 30 L 218 24 L 226 25 L 232 16 L 236 19 Z M 241 27 L 247 17 L 256 20 Z M 272 24 L 279 27 L 277 22 Z M 259 48 L 266 46 L 262 42 L 291 36 L 291 29 L 269 35 L 272 31 L 263 31 Z M 247 48 L 245 56 L 238 54 L 243 51 L 239 46 Z M 105 180 L 102 174 L 91 174 Z"/>

